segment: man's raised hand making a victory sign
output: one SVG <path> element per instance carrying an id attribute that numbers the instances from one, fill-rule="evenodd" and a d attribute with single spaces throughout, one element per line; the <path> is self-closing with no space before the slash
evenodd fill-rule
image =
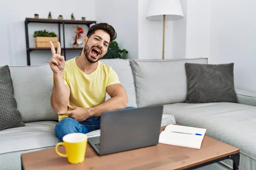
<path id="1" fill-rule="evenodd" d="M 57 54 L 56 54 L 53 43 L 51 41 L 49 43 L 51 45 L 51 50 L 52 50 L 52 58 L 49 60 L 49 65 L 53 73 L 58 73 L 60 71 L 63 72 L 64 66 L 65 66 L 65 59 L 64 59 L 64 56 L 61 56 L 61 44 L 60 42 L 58 42 Z"/>

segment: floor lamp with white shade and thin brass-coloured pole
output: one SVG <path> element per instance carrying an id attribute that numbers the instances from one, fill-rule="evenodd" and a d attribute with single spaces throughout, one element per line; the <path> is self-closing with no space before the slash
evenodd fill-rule
<path id="1" fill-rule="evenodd" d="M 164 40 L 165 40 L 165 21 L 179 20 L 183 18 L 183 11 L 180 0 L 149 0 L 146 19 L 163 21 L 163 59 L 164 59 Z"/>

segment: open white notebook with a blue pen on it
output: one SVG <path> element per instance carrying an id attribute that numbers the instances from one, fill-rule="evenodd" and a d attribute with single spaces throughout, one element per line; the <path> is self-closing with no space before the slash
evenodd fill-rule
<path id="1" fill-rule="evenodd" d="M 197 135 L 195 135 L 196 133 Z M 159 143 L 200 149 L 205 133 L 206 129 L 203 128 L 168 125 L 165 130 L 160 133 Z"/>

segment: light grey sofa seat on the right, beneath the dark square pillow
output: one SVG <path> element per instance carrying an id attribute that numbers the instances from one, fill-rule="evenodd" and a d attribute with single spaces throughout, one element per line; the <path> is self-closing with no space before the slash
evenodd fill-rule
<path id="1" fill-rule="evenodd" d="M 174 115 L 180 125 L 206 128 L 207 136 L 239 148 L 244 169 L 256 165 L 255 106 L 228 102 L 176 103 L 164 105 L 163 114 Z"/>

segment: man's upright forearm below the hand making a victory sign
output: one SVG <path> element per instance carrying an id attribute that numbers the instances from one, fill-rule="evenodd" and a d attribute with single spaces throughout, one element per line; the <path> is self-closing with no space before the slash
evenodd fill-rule
<path id="1" fill-rule="evenodd" d="M 64 84 L 63 72 L 53 73 L 53 89 L 51 105 L 55 113 L 66 112 L 68 110 L 70 98 L 70 87 Z"/>

